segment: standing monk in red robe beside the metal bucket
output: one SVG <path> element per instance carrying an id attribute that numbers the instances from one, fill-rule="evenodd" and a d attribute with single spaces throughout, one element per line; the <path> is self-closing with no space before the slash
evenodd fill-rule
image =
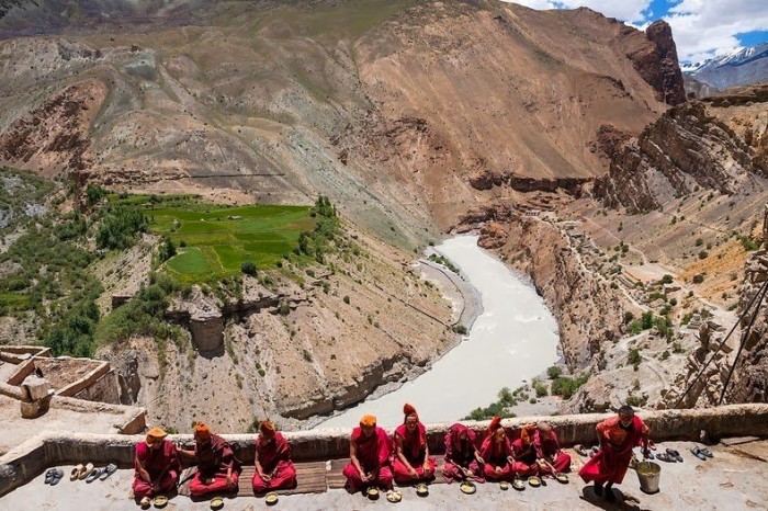
<path id="1" fill-rule="evenodd" d="M 650 430 L 630 406 L 621 407 L 618 417 L 606 419 L 596 429 L 600 451 L 578 475 L 585 482 L 595 481 L 595 495 L 602 497 L 605 492 L 607 500 L 615 500 L 612 487 L 624 480 L 632 461 L 632 448 L 642 444 L 643 457 L 648 457 Z"/>

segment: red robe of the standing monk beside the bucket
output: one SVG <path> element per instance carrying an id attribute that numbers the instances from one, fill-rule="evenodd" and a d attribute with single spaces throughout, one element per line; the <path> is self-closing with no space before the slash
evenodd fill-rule
<path id="1" fill-rule="evenodd" d="M 597 424 L 597 431 L 601 448 L 581 467 L 578 475 L 585 482 L 594 480 L 597 484 L 621 484 L 632 461 L 632 450 L 641 444 L 648 427 L 635 416 L 630 427 L 623 428 L 619 418 L 612 417 Z"/>

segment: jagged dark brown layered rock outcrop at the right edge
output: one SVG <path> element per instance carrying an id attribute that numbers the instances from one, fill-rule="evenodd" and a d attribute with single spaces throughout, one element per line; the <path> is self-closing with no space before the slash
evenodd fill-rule
<path id="1" fill-rule="evenodd" d="M 768 107 L 759 88 L 750 96 L 746 116 L 738 109 L 721 111 L 731 102 L 712 99 L 669 110 L 637 137 L 601 126 L 595 148 L 608 160 L 609 172 L 596 180 L 595 195 L 609 207 L 641 213 L 697 186 L 730 194 L 747 173 L 766 175 L 761 115 Z"/>

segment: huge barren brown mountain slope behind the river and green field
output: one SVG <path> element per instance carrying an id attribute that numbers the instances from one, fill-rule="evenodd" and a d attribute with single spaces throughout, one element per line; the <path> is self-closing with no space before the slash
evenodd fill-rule
<path id="1" fill-rule="evenodd" d="M 645 81 L 663 73 L 657 44 L 585 9 L 366 0 L 195 12 L 197 25 L 110 35 L 81 16 L 66 36 L 0 43 L 4 161 L 219 200 L 326 193 L 407 245 L 498 193 L 476 194 L 470 178 L 599 175 L 598 127 L 636 133 L 665 107 Z M 56 98 L 94 104 L 64 122 Z M 39 143 L 57 130 L 88 143 Z M 67 164 L 66 150 L 89 162 Z"/>

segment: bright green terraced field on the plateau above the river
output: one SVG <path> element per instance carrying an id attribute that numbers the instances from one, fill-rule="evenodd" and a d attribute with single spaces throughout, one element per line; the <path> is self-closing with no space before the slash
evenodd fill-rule
<path id="1" fill-rule="evenodd" d="M 259 269 L 274 268 L 296 247 L 298 235 L 315 227 L 308 206 L 222 207 L 192 197 L 128 200 L 149 217 L 153 234 L 171 237 L 178 253 L 166 269 L 189 283 L 238 274 L 244 261 Z M 110 202 L 122 203 L 122 198 L 112 196 Z"/>

